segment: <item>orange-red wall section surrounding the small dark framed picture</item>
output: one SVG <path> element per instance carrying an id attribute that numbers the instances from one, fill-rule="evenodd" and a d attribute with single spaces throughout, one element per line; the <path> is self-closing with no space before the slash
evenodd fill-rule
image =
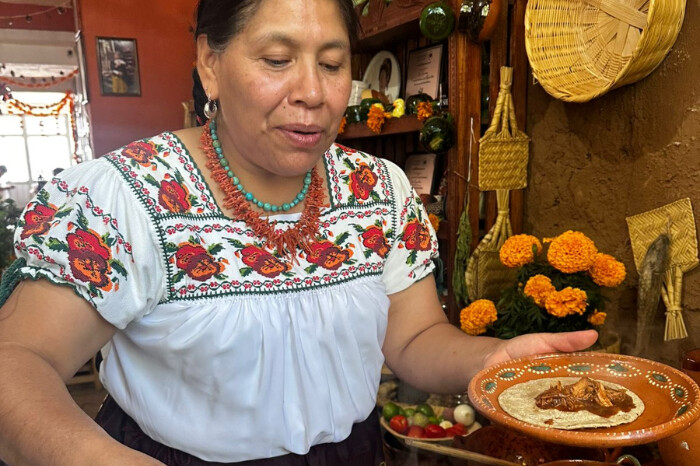
<path id="1" fill-rule="evenodd" d="M 180 129 L 192 95 L 196 0 L 82 0 L 88 97 L 95 155 L 135 139 Z M 97 37 L 136 39 L 140 97 L 100 95 Z"/>

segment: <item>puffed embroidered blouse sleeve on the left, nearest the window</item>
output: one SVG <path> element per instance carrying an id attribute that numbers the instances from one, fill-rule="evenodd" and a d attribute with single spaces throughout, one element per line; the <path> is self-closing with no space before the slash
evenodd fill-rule
<path id="1" fill-rule="evenodd" d="M 15 231 L 17 261 L 2 288 L 9 294 L 20 280 L 40 278 L 69 286 L 123 329 L 164 292 L 153 238 L 147 213 L 116 169 L 102 159 L 86 162 L 61 172 L 27 204 Z"/>

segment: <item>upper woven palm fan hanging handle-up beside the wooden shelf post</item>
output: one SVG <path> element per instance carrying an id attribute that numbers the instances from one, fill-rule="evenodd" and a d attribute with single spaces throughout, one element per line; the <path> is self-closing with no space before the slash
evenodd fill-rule
<path id="1" fill-rule="evenodd" d="M 527 186 L 530 138 L 518 130 L 513 95 L 513 68 L 501 67 L 501 89 L 491 125 L 479 140 L 479 189 L 523 189 Z"/>

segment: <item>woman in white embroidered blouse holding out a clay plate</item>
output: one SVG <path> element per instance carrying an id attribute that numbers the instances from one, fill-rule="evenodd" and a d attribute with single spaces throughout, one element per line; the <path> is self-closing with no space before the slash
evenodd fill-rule
<path id="1" fill-rule="evenodd" d="M 0 310 L 0 457 L 378 464 L 385 359 L 457 393 L 485 365 L 593 342 L 446 321 L 405 176 L 333 144 L 350 0 L 202 0 L 197 18 L 211 122 L 66 170 L 27 207 Z M 107 342 L 105 433 L 63 381 Z"/>

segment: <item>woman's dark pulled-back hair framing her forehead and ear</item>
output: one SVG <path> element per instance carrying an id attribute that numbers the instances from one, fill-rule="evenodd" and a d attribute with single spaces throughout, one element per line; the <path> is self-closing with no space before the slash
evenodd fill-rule
<path id="1" fill-rule="evenodd" d="M 350 47 L 352 48 L 357 42 L 359 25 L 353 1 L 335 0 L 335 2 L 348 31 Z M 209 47 L 214 51 L 223 52 L 231 39 L 245 28 L 261 4 L 261 0 L 199 0 L 196 10 L 195 39 L 206 34 Z M 204 122 L 206 118 L 203 109 L 207 102 L 207 96 L 196 69 L 192 73 L 192 78 L 194 81 L 192 97 L 194 98 L 195 112 L 197 117 Z"/>

